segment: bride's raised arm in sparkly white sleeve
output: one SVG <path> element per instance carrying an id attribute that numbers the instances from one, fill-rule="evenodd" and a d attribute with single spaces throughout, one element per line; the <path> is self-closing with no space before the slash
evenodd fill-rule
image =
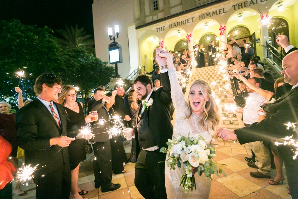
<path id="1" fill-rule="evenodd" d="M 184 99 L 184 95 L 176 73 L 176 68 L 174 67 L 170 53 L 168 53 L 166 50 L 160 49 L 158 52 L 156 52 L 156 55 L 167 59 L 167 70 L 171 84 L 171 98 L 176 113 L 181 112 L 183 108 L 187 107 L 187 104 Z"/>

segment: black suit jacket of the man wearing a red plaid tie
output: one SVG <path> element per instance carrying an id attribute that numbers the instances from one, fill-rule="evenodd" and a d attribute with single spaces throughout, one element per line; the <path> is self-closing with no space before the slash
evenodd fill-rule
<path id="1" fill-rule="evenodd" d="M 85 123 L 85 121 L 73 123 L 63 106 L 60 104 L 56 106 L 61 129 L 46 106 L 37 98 L 19 109 L 16 114 L 18 146 L 25 150 L 26 164 L 31 164 L 31 166 L 39 164 L 35 175 L 54 172 L 62 168 L 63 164 L 69 167 L 68 147 L 61 149 L 58 145 L 50 146 L 49 140 L 60 136 L 74 137 L 76 133 L 67 132 L 75 131 L 77 127 Z M 42 166 L 44 167 L 41 168 Z"/>

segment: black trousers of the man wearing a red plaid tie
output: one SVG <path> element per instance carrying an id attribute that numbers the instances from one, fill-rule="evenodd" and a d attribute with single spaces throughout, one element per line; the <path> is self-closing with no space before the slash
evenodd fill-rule
<path id="1" fill-rule="evenodd" d="M 42 175 L 42 174 L 40 174 Z M 65 199 L 69 198 L 71 187 L 71 174 L 69 165 L 45 174 L 35 176 L 33 181 L 36 184 L 36 199 Z"/>

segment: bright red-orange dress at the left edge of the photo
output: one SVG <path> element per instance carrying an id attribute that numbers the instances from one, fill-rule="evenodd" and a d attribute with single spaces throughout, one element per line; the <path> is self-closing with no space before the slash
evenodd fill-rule
<path id="1" fill-rule="evenodd" d="M 15 167 L 12 163 L 7 161 L 7 157 L 12 151 L 12 146 L 0 135 L 0 189 L 3 189 L 7 183 L 13 181 L 13 175 L 11 172 L 15 171 Z"/>

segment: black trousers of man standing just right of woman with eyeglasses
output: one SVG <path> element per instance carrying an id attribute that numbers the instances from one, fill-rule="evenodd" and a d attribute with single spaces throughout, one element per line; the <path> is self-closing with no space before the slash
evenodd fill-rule
<path id="1" fill-rule="evenodd" d="M 110 141 L 92 144 L 96 160 L 93 160 L 94 182 L 100 186 L 110 186 L 112 181 L 112 153 Z"/>

